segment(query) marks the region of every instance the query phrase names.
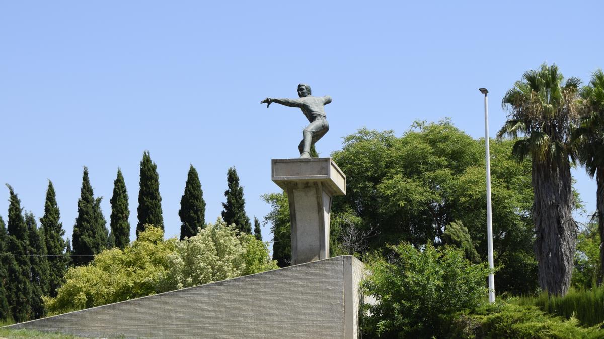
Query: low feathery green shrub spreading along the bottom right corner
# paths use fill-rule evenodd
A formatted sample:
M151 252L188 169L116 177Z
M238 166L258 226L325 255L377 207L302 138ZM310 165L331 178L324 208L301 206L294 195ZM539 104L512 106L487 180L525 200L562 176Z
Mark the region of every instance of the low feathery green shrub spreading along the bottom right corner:
M579 320L564 320L535 306L507 303L484 305L451 318L451 338L604 338L598 326L582 328Z

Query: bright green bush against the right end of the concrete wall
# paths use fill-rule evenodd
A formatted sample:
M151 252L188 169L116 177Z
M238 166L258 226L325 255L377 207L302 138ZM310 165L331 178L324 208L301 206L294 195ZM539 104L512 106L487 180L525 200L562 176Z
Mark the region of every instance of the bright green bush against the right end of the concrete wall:
M362 287L377 300L364 306L368 337L439 335L450 315L484 300L489 269L468 261L462 250L429 244L418 250L406 243L390 249L389 261L377 255L367 261L371 274Z

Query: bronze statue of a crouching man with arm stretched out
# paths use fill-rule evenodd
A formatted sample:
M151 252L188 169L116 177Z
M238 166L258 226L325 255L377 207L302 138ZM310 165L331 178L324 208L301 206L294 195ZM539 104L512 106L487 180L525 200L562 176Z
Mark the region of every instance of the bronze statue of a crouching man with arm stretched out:
M266 98L260 103L266 104L266 108L271 106L272 103L277 103L283 106L298 107L302 110L302 113L306 115L310 124L302 130L302 141L298 145L298 150L300 150L301 158L309 158L310 147L329 130L323 106L331 103L332 98L327 95L321 98L312 97L310 95L310 86L307 84L298 85L298 97L300 99Z

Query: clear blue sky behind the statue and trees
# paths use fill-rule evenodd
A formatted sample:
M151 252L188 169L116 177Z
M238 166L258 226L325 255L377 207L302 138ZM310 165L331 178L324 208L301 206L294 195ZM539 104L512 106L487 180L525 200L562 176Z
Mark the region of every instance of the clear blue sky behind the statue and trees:
M297 157L306 119L260 101L296 97L300 82L330 95L322 156L360 127L393 129L451 117L484 136L505 121L501 98L528 69L567 77L604 68L599 1L1 1L0 183L42 217L50 179L71 237L88 166L111 214L118 166L137 224L139 164L158 165L166 235L178 235L189 164L214 222L236 166L246 211L269 212L271 159ZM596 185L576 188L595 211ZM6 220L8 189L0 187ZM585 222L584 216L577 221ZM496 221L494 221L496 223ZM263 227L265 239L272 239Z

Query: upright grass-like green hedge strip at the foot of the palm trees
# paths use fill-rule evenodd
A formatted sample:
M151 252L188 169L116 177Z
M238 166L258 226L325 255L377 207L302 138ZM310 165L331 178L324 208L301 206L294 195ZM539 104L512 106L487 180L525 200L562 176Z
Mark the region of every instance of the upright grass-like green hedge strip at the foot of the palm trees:
M565 318L576 317L582 325L594 326L604 322L604 286L591 290L571 288L566 296L519 297L510 299L517 305L538 306L544 312Z

